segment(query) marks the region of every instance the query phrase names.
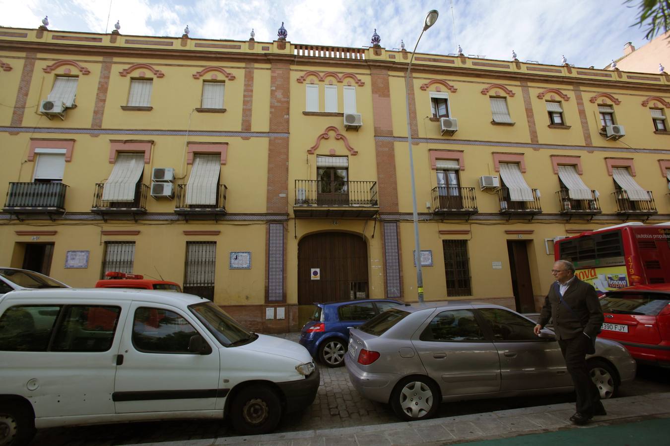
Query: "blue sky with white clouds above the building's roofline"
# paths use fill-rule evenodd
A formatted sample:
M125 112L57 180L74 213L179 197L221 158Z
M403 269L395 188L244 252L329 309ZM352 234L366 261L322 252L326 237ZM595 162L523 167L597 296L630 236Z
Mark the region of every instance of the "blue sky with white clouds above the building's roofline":
M291 43L367 47L375 29L381 45L411 51L431 9L440 13L417 52L604 68L630 41L647 43L633 25L638 1L624 0L0 0L0 26L123 35L257 41L277 39L284 22ZM633 26L631 26L633 25Z

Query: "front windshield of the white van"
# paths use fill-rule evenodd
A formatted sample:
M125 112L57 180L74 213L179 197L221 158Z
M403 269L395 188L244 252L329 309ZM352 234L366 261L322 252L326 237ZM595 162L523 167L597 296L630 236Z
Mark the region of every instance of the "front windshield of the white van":
M194 304L188 309L223 346L237 347L258 339L257 334L247 331L213 302Z

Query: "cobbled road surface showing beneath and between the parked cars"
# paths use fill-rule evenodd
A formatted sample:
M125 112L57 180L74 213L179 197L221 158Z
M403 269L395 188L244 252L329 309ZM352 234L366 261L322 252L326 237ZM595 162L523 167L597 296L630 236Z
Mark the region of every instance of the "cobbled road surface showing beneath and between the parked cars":
M314 403L301 414L285 417L277 432L331 429L397 423L388 405L363 399L352 388L344 367L320 366L322 382ZM639 366L636 379L620 388L620 397L670 392L667 369ZM574 401L574 395L515 397L444 403L440 417L468 415ZM155 421L84 427L58 427L38 431L32 445L106 446L160 441L184 441L236 435L221 421Z

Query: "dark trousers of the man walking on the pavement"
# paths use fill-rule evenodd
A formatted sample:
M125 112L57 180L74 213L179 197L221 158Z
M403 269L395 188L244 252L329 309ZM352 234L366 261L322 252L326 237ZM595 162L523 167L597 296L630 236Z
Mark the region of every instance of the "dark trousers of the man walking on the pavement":
M600 392L589 375L586 366L586 352L590 348L590 340L585 334L572 339L559 339L567 372L572 376L572 382L577 394L576 411L586 417L592 417L594 412L602 409Z

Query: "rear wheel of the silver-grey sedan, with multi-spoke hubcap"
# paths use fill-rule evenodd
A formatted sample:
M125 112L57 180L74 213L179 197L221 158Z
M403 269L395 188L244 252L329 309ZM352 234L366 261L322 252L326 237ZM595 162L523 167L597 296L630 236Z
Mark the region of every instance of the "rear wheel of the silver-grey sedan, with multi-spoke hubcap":
M440 391L431 381L422 377L401 380L391 396L395 414L405 421L431 418L440 407Z

